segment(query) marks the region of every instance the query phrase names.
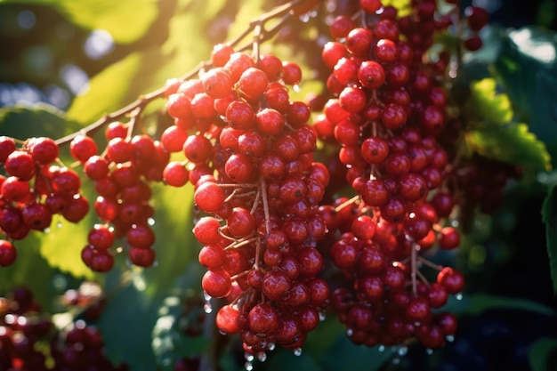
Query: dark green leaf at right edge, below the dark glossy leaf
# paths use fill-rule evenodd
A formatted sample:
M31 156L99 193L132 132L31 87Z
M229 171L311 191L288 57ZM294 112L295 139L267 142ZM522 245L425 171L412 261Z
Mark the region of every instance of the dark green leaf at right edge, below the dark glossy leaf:
M545 243L549 256L553 294L557 295L557 186L553 186L545 197L542 219L545 223Z

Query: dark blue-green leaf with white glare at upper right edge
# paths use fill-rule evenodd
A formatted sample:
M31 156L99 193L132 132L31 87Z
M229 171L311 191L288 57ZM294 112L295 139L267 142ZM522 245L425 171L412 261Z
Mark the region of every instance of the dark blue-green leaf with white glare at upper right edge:
M526 27L508 32L495 64L516 113L557 156L557 32Z

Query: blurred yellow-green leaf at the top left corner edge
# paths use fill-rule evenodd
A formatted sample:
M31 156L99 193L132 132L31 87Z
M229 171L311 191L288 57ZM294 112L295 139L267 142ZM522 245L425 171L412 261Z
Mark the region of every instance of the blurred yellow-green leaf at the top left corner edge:
M117 43L141 38L157 19L157 0L0 0L0 4L51 6L77 26L104 29Z

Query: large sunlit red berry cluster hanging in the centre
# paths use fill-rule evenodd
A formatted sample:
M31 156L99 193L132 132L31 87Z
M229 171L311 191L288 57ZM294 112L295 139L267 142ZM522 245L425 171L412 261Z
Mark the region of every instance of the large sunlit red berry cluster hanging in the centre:
M251 354L298 349L328 297L315 246L326 233L319 202L329 175L313 160L310 109L287 89L302 72L227 45L214 48L212 62L198 79L169 85L175 125L161 141L186 160L166 166L165 182L194 184L202 286L229 300L217 327L239 333Z

